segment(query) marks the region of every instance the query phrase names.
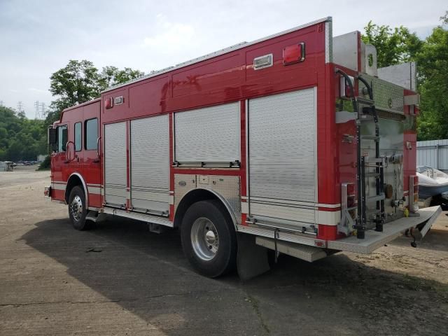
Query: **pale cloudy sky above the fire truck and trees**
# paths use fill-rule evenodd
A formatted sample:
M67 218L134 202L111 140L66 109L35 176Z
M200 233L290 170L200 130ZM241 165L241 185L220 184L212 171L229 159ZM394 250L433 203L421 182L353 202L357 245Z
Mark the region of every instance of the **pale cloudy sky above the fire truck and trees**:
M147 73L326 16L335 36L372 20L425 37L445 10L441 0L0 0L0 101L22 101L34 118L34 102L52 100L51 73L69 59Z

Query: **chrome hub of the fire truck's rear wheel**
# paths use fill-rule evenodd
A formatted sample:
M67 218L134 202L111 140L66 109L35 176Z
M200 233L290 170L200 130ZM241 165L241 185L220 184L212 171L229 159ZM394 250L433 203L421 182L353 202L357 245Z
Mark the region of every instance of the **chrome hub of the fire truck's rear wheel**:
M208 218L197 218L191 228L191 244L196 255L205 261L215 258L219 248L218 231Z

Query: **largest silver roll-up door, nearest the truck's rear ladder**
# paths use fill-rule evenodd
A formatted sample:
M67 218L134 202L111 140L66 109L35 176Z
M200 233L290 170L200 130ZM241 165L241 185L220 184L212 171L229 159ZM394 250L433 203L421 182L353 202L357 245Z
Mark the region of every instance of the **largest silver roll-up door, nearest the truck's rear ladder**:
M250 215L315 223L316 155L315 88L250 99Z

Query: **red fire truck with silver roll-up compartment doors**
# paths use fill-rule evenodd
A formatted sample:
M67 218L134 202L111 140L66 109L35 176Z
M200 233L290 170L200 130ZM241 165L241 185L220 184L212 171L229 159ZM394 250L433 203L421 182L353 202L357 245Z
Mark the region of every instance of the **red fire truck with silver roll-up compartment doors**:
M332 19L239 43L109 87L49 128L51 186L84 230L105 215L179 228L206 276L415 246L440 213L418 209L415 64L377 69Z

